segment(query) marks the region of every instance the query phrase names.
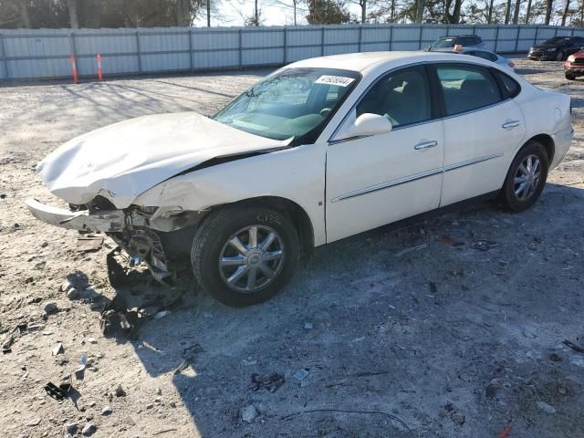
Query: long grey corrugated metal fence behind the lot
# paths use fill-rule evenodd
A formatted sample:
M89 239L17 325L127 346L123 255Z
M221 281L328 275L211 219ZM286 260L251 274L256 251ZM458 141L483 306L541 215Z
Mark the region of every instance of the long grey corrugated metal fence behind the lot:
M475 34L501 53L526 51L553 36L584 36L558 26L347 25L3 29L0 80L273 66L308 57L376 50L419 50L445 35Z

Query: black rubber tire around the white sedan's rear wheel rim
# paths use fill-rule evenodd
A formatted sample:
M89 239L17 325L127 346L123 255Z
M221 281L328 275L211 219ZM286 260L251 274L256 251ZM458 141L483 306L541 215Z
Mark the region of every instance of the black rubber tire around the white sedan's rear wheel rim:
M531 191L527 190L526 193L520 192L519 194L516 194L516 190L520 189L521 186L521 183L516 183L515 181L516 175L519 174L519 178L523 176L519 168L521 164L524 163L529 157L537 157L539 160L539 178L537 179L537 182L532 180L533 184L530 186ZM525 167L526 166L524 164L524 169ZM536 203L537 198L539 198L539 195L544 189L547 181L548 168L549 157L547 157L546 148L544 148L543 145L537 141L527 141L526 145L521 149L521 151L517 152L515 159L509 167L505 183L503 184L503 188L499 193L499 201L507 210L512 212L519 213L527 210L527 208ZM526 189L524 189L524 191L525 190ZM525 199L521 199L524 194L526 194L527 197Z

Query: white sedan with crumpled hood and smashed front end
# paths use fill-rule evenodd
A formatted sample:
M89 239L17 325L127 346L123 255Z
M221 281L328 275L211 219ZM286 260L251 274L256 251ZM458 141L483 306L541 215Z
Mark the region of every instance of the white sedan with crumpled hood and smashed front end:
M110 235L164 281L190 255L231 306L272 297L301 254L492 195L521 212L568 151L570 99L478 57L381 52L281 68L212 118L126 120L37 166L48 224Z

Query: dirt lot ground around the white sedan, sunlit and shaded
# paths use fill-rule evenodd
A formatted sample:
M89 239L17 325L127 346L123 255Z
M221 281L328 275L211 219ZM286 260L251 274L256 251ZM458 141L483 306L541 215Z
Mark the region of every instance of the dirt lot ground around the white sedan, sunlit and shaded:
M562 341L584 345L584 84L556 62L516 63L575 107L575 141L534 208L478 205L320 248L243 309L190 279L114 290L113 243L78 252L23 200L54 202L33 166L60 143L142 114L211 114L266 71L0 88L0 436L583 437L584 354ZM69 299L67 278L93 289ZM99 329L114 297L183 300L130 340ZM75 390L49 398L84 353Z

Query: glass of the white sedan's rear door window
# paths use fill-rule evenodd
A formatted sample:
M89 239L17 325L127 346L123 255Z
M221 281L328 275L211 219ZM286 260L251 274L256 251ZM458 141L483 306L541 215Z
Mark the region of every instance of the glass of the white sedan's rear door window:
M501 92L488 68L472 65L437 65L446 115L478 110L501 101Z

